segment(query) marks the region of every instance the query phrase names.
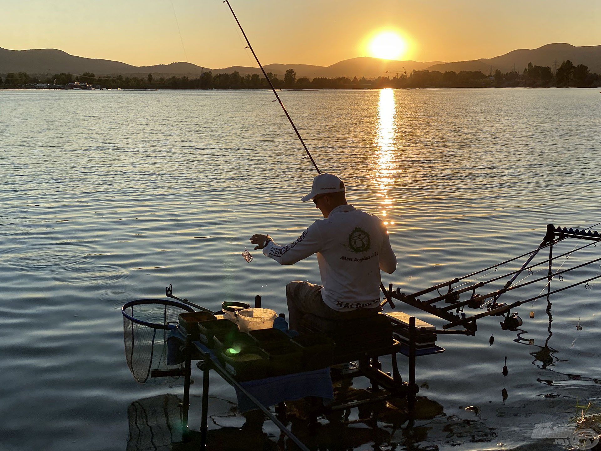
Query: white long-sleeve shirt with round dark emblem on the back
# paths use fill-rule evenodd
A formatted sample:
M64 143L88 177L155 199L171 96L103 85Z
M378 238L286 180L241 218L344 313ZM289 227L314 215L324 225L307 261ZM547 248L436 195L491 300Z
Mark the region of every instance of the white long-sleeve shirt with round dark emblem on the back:
M315 221L296 241L285 246L270 241L263 249L263 254L281 265L316 253L323 302L338 311L378 307L380 269L391 274L397 268L380 218L348 204Z

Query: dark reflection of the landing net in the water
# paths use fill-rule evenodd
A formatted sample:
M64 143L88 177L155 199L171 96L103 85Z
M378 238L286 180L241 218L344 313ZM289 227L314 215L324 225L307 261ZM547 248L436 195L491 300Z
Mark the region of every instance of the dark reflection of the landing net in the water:
M132 402L127 408L127 451L171 450L182 441L182 400L161 394Z

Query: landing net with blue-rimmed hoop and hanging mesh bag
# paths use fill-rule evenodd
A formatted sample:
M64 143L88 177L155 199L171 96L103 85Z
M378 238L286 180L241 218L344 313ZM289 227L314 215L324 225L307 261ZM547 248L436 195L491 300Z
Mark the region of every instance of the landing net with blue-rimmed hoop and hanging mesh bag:
M161 299L140 299L123 306L125 355L136 381L144 384L153 369L178 367L166 364L167 337L169 330L177 324L178 314L186 311L194 309Z

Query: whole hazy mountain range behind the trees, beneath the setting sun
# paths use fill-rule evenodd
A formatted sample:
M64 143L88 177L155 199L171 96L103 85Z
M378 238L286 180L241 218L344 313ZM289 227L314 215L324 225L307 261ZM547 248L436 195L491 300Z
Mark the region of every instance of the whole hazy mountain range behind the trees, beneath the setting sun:
M288 69L294 69L297 78L307 76L314 77L339 77L354 76L361 78L377 78L378 76L394 76L397 73L412 72L412 70L481 70L484 73L510 72L515 68L522 72L528 63L537 66L554 67L566 60L574 64L585 64L591 72L601 73L601 45L576 47L566 43L547 44L537 49L519 49L494 58L480 58L479 60L455 61L395 61L380 60L379 58L359 57L350 60L339 61L331 66L313 66L310 64L267 64L266 72L282 76ZM159 76L194 76L202 72L211 71L217 73L231 73L237 70L240 74L260 74L258 67L231 66L218 69L197 66L192 63L157 64L156 66L132 66L120 61L99 60L96 58L84 58L70 55L57 49L34 49L34 50L8 50L0 48L0 74L8 72L27 72L29 74L53 74L73 73L81 74L92 72L96 76L123 75L123 76L146 76L152 73Z

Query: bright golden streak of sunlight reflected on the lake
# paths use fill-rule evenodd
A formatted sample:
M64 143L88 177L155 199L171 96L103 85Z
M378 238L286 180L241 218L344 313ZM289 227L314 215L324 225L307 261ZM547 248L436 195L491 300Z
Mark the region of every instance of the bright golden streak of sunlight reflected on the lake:
M380 90L376 139L374 141L376 151L371 166L374 168L372 180L376 186L376 195L380 197L380 216L382 216L386 225L394 224L394 222L386 220L386 216L388 215L387 210L395 202L395 199L389 197L388 193L394 185L395 174L400 171L397 168L395 157L395 138L397 136L396 115L394 91L390 88Z

